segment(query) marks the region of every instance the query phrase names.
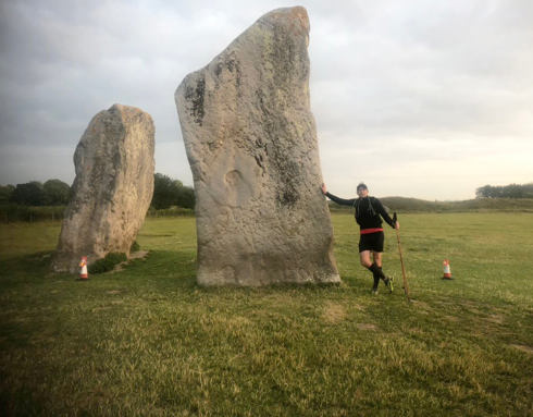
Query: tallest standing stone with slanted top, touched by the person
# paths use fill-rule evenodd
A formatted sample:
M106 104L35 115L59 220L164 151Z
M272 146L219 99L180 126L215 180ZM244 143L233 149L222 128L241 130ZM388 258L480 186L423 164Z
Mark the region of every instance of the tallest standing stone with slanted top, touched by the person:
M338 282L309 103L309 20L274 10L175 94L203 285Z

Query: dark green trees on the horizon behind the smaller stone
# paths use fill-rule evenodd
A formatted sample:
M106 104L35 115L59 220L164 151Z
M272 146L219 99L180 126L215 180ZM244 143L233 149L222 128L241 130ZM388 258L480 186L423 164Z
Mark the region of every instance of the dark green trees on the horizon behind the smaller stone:
M156 173L151 207L160 210L172 206L194 209L195 191L178 180ZM0 185L0 205L65 206L72 197L72 187L61 180L45 183L30 181L24 184Z

